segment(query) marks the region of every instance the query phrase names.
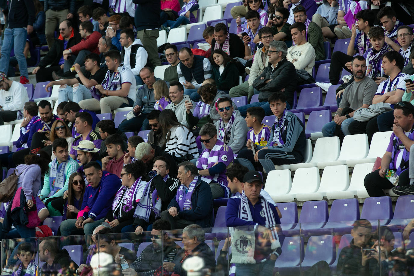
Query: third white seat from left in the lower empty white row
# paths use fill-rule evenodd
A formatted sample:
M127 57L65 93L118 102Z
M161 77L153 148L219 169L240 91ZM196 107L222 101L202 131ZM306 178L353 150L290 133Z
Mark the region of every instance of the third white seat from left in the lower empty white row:
M332 180L335 179L335 185ZM314 193L296 194L296 199L303 200L322 200L323 197L332 199L332 194L328 192L345 191L349 187L349 171L347 165L327 166L323 170L322 178L318 191Z

